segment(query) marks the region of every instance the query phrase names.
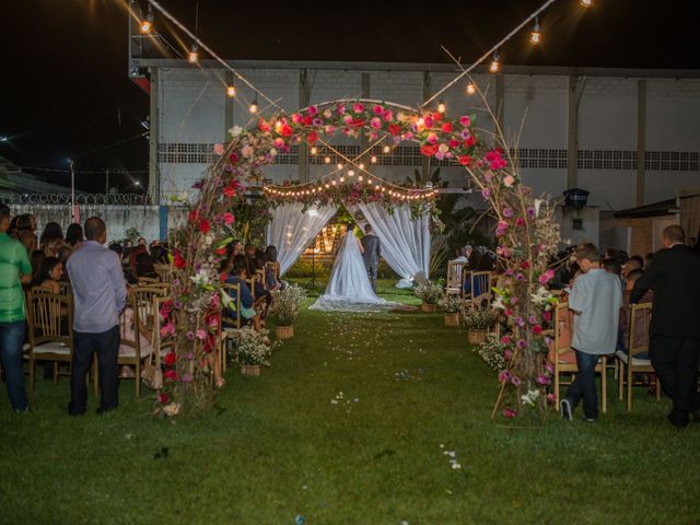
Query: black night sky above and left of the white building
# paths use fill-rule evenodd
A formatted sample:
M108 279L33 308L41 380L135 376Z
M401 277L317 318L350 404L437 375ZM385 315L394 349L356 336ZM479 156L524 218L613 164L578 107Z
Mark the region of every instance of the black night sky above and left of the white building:
M195 0L161 2L194 27ZM448 62L444 45L470 63L542 2L200 0L199 32L232 59ZM1 2L0 137L9 141L0 142L0 155L21 166L67 168L72 158L78 170L145 170L140 122L149 100L127 77L125 3ZM579 0L558 0L540 19L542 45L528 45L523 32L501 58L505 65L700 69L692 3L594 0L586 10ZM188 39L158 13L155 24L184 54ZM46 179L67 184L61 173ZM84 174L78 186L102 190L104 177Z

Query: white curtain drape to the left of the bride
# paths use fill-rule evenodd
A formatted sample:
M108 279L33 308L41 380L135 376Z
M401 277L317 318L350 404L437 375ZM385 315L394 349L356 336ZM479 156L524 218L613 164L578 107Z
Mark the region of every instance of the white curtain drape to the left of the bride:
M280 273L284 275L302 256L326 223L335 215L337 208L310 208L302 213L304 205L285 203L272 211L272 220L267 226L267 244L277 247Z

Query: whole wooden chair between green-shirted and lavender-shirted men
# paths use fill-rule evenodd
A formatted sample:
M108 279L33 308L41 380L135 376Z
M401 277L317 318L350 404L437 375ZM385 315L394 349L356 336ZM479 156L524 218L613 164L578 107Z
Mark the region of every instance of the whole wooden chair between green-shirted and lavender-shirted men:
M37 361L54 361L54 383L59 375L70 376L73 357L72 295L33 288L26 293L28 324L30 386L34 390ZM67 312L61 322L61 311ZM68 363L68 374L59 374L58 364Z

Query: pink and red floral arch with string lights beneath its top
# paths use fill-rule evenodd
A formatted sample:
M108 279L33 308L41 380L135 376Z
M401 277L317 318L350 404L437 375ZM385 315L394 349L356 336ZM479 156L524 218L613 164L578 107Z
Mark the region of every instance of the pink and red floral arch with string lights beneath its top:
M243 199L246 184L262 180L262 167L278 154L295 144L324 144L346 165L294 187L266 186L272 206L368 201L387 209L408 205L418 213L432 207L434 188L406 188L374 176L361 159L349 159L325 141L337 132L364 133L373 145L389 149L402 141L417 142L422 155L452 159L465 167L498 219L494 234L504 275L497 305L512 327L503 338L508 366L499 374L501 393L494 412L503 405L509 416L545 413L549 380L544 332L551 323L553 300L544 284L553 277L548 260L559 240L549 202L536 199L521 184L517 162L510 156L500 130L489 148L479 140L472 116L451 119L431 109L366 100L328 102L292 115L259 118L250 129L230 130L230 142L215 148L218 160L197 184L199 199L188 205L188 222L173 238L173 301L162 312L165 324L161 331L174 337L175 352L165 362L161 408L166 413L200 411L213 401L206 358L214 351L220 335L219 265L233 240L230 226L236 220L230 210Z

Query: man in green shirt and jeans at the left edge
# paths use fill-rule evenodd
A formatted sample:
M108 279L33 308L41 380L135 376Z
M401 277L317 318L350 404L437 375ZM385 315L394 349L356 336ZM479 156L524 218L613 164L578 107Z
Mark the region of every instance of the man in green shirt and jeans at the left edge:
M9 229L10 208L0 205L0 362L12 408L27 412L30 404L22 372L22 342L26 329L22 283L32 279L32 265L22 243L8 235Z

